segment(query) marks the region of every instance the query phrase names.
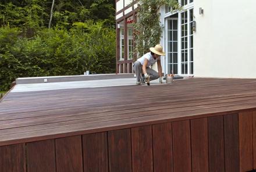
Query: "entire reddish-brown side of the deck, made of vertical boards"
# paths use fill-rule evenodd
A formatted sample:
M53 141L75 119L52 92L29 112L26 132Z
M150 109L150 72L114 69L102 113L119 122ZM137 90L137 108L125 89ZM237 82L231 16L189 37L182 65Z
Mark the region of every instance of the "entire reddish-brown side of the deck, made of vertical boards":
M250 171L255 113L1 146L0 171Z

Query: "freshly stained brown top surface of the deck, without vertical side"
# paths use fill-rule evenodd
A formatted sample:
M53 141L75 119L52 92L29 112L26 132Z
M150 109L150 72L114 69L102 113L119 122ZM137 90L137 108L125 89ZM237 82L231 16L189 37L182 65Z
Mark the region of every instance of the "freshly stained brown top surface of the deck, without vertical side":
M255 87L256 80L193 78L10 92L0 103L0 146L255 110Z

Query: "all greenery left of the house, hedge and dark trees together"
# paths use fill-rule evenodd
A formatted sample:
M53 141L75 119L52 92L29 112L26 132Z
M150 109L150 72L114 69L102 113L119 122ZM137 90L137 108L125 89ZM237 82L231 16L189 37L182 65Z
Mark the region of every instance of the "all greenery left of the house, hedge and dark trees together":
M115 72L115 1L1 0L0 89L17 77Z

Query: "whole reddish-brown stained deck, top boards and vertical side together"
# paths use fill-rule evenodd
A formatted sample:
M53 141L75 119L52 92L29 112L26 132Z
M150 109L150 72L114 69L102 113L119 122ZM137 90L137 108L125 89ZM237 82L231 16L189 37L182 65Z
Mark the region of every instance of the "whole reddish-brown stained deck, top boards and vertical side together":
M0 171L256 169L256 80L9 93Z

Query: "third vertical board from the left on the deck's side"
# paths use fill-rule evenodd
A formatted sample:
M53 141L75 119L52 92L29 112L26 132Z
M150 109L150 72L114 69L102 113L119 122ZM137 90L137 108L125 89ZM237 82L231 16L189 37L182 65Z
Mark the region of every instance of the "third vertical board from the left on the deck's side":
M55 139L56 171L83 171L81 135Z

